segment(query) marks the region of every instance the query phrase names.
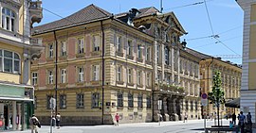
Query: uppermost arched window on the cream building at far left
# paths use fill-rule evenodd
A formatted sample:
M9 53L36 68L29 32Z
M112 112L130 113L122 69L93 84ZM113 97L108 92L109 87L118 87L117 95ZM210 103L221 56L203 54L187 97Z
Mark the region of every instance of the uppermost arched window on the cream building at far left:
M15 19L14 11L9 8L2 8L2 28L13 32Z

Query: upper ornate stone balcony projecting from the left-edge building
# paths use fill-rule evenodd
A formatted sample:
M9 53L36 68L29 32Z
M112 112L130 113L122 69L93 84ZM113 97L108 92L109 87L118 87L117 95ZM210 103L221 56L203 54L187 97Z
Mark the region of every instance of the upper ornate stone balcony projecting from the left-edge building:
M30 25L36 23L40 23L43 18L43 8L41 0L31 0L29 3L29 11L30 11Z

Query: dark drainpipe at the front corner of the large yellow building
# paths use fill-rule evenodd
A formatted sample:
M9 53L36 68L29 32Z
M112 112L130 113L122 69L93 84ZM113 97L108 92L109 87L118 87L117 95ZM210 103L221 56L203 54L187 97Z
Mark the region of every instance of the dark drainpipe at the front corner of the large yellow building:
M102 33L102 103L101 103L101 107L102 107L102 118L101 118L101 124L104 125L104 81L105 81L105 62L104 62L104 54L105 54L105 35L104 35L104 28L103 28L103 21L101 21L101 33Z

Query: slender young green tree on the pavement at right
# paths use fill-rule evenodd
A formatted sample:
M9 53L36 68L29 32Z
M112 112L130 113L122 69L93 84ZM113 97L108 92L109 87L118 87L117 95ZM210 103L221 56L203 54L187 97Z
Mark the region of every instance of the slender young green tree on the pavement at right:
M220 105L225 104L225 98L224 98L224 91L221 88L222 81L221 81L221 73L219 71L215 72L215 75L213 75L213 87L212 90L208 92L208 99L210 100L210 103L214 105L214 107L217 107L217 115L218 115L218 126L220 126L220 120L219 120L219 110Z

